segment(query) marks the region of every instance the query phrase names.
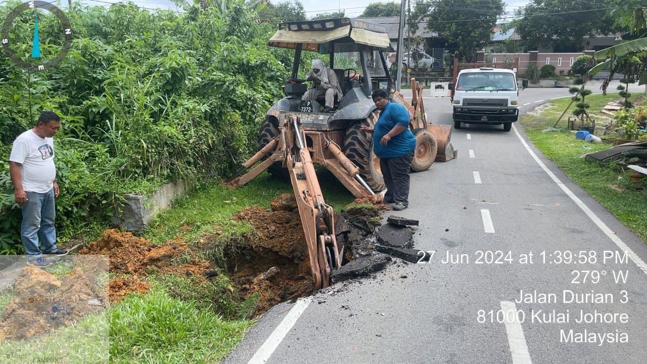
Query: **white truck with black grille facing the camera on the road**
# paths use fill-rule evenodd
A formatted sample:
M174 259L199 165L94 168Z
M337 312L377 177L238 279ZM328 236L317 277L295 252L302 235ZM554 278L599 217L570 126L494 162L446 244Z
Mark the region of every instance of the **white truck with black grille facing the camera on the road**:
M465 124L503 124L510 131L519 118L516 70L481 67L464 69L449 85L453 89L454 128Z

